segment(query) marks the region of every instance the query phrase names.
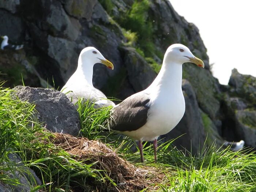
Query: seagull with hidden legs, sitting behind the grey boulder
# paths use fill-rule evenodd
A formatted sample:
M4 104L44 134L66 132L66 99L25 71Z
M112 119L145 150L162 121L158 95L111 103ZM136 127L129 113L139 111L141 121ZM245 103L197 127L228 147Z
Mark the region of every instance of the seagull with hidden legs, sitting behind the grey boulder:
M75 105L79 98L91 101L96 108L115 105L93 86L93 66L96 63L102 63L114 69L113 64L106 60L96 48L84 48L79 55L76 71L61 89L61 92L65 93Z

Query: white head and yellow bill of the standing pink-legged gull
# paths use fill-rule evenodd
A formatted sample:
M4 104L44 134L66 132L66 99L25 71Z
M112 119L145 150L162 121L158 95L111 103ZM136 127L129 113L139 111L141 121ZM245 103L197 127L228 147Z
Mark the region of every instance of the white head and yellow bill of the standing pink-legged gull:
M165 61L176 62L176 63L195 63L199 67L204 68L204 62L201 59L195 57L189 48L182 44L173 44L169 46L165 53Z

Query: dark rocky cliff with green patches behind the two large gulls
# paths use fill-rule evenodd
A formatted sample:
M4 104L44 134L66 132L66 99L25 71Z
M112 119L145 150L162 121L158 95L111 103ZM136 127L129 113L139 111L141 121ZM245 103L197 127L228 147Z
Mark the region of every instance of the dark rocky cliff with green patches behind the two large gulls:
M95 46L115 66L95 65L93 82L108 97L124 99L155 78L167 47L181 43L206 67L183 65L186 112L163 136L193 151L214 140L255 143L255 78L233 71L229 86L210 71L199 30L179 16L168 0L0 0L0 35L25 44L0 51L5 86L62 87L75 71L80 51ZM21 77L22 74L22 77ZM207 136L208 135L208 136Z

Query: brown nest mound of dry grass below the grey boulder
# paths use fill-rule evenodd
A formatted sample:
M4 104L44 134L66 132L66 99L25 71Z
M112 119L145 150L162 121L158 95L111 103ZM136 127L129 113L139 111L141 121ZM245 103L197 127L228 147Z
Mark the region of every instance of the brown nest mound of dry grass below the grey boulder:
M159 170L152 167L138 168L132 163L118 157L118 155L105 144L97 140L76 138L68 134L53 133L50 142L60 147L75 159L86 159L84 163L94 163L97 170L106 170L108 176L117 184L106 183L106 191L141 191L147 188L156 189L157 183L161 183L165 174L159 174ZM105 191L104 190L104 191Z

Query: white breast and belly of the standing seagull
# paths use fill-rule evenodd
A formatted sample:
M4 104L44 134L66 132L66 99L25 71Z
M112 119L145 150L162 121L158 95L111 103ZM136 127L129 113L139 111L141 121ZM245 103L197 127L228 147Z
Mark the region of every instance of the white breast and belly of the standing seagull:
M185 99L181 89L172 94L166 91L158 95L153 93L150 103L147 123L135 131L125 131L125 135L135 140L152 141L171 131L185 113Z

